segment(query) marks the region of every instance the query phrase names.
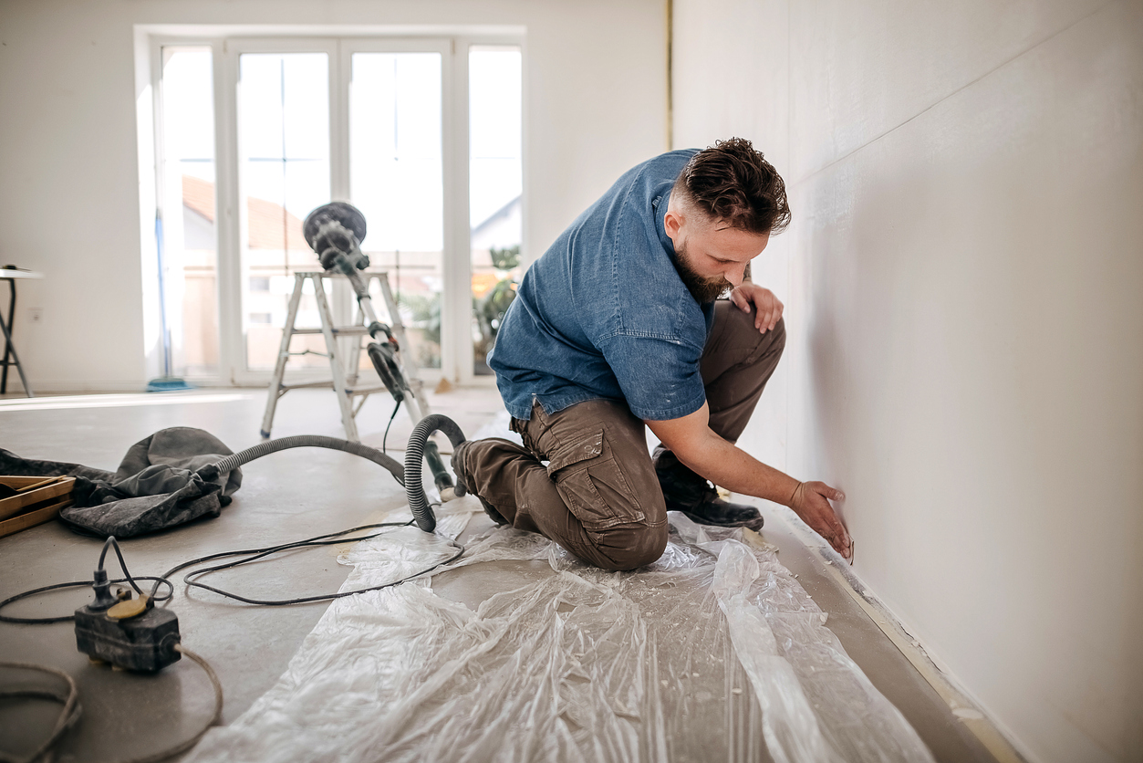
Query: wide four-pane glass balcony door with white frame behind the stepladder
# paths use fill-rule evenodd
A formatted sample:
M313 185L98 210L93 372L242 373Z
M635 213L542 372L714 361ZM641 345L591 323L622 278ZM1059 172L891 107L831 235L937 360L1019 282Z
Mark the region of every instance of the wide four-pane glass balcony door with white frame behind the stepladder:
M194 223L169 224L160 247L176 373L269 379L295 273L320 269L302 221L330 200L365 214L362 249L387 273L423 376L488 373L520 276L519 41L262 37L159 49L158 217ZM347 286L327 292L351 320ZM318 325L313 294L297 323ZM291 351L295 377L328 375L320 335L295 337Z

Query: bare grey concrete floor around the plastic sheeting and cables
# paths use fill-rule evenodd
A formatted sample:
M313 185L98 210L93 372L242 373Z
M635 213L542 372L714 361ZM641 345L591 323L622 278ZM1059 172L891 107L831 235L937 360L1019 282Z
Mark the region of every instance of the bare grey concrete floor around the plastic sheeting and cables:
M219 400L218 395L231 397ZM168 397L163 404L149 404L147 398L142 403L33 410L0 406L0 447L22 456L113 470L133 443L165 427L193 426L217 435L237 451L258 442L265 392L202 390ZM493 389L454 390L432 396L430 404L434 412L454 418L470 435L502 410ZM379 446L391 410L387 397L367 403L359 416L362 440ZM389 443L399 447L410 427L402 411ZM339 435L334 396L323 390L297 390L283 397L273 435L295 434ZM397 458L400 460L400 453ZM122 548L133 574L161 574L178 562L206 554L270 546L377 522L403 504L403 491L376 464L315 448L286 451L247 466L234 502L217 519L127 540ZM479 532L486 522L478 515L466 534ZM828 627L913 724L937 760L994 760L853 597L826 574L821 558L782 520L769 515L762 535L780 548L785 566L799 575L806 590L829 613ZM326 547L291 553L219 573L211 582L265 598L336 591L349 572L336 562L341 550ZM0 599L40 586L89 580L98 553L97 540L73 534L58 523L0 539ZM474 605L497 590L514 588L520 575L539 574L547 574L546 565L541 563L474 565L441 574L434 590ZM89 598L87 589L51 594L6 607L5 614L66 614ZM241 715L274 684L326 606L249 606L208 593L187 594L182 586L176 587L170 604L179 618L183 644L205 657L222 681L226 694L224 723ZM0 660L62 669L79 684L83 714L58 747L61 760L71 756L74 761L115 761L153 753L193 734L210 714L209 684L191 661L184 659L154 676L93 666L75 651L70 622L0 623ZM0 684L14 683L53 682L25 673L0 671ZM56 707L48 704L0 705L0 749L26 754L49 731L55 713Z

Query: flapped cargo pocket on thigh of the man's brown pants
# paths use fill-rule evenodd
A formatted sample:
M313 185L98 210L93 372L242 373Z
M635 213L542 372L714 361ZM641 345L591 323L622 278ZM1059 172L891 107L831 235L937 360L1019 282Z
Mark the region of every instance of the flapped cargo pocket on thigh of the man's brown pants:
M551 453L547 474L584 530L646 522L602 428L577 434Z

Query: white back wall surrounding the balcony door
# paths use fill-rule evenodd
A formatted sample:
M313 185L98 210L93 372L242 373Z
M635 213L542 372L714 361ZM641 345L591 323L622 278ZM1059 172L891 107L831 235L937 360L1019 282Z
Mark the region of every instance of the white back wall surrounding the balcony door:
M0 264L47 275L19 286L30 383L141 389L154 373L136 24L525 26L523 249L535 257L622 172L666 149L665 18L662 0L3 0Z

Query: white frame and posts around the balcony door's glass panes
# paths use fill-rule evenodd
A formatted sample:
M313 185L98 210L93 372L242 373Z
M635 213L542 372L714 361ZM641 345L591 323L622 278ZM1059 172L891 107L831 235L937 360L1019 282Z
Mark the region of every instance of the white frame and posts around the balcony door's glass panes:
M494 376L477 376L473 373L472 320L472 265L471 230L469 221L469 51L472 46L518 46L526 55L525 31L481 30L446 27L432 30L418 27L402 30L385 27L377 30L361 27L338 27L315 30L313 34L282 34L281 27L266 30L229 30L221 27L217 33L203 34L201 26L193 33L177 33L171 26L136 27L136 34L144 35L145 49L150 58L150 79L154 97L144 104L141 100L139 126L145 122L153 130L151 135L141 133L141 167L150 149L153 166L149 173L141 168L141 208L153 196L155 206L161 208L162 188L161 162L161 90L162 48L166 46L202 46L211 49L215 106L215 231L217 240L217 305L218 305L218 373L214 376L192 377L190 381L203 386L262 387L269 383L271 371L249 371L246 367L242 312L242 262L241 236L246 230L246 209L239 177L238 137L238 77L239 56L243 53L326 53L329 61L329 151L330 196L333 200L350 199L349 174L349 85L352 75L354 53L407 53L432 51L441 54L441 157L443 172L443 284L441 293L441 368L425 368L421 377L429 384L440 377L465 386L491 386ZM138 38L137 38L138 39ZM521 82L525 87L526 82ZM145 114L142 110L150 110ZM525 104L525 114L527 104ZM523 161L527 164L527 118L521 126L525 145ZM525 177L527 170L525 169ZM150 185L150 189L149 189ZM150 190L150 196L149 196ZM527 213L527 189L523 210ZM179 200L181 204L181 200ZM166 210L163 210L166 212ZM179 210L181 212L181 210ZM527 214L525 214L527 226ZM144 279L153 271L147 264L153 257L153 245L145 239L147 224L141 225L144 236ZM152 231L153 238L153 231ZM314 255L317 267L317 255ZM526 253L521 257L527 262ZM145 287L145 292L146 292ZM147 297L145 293L144 299ZM311 381L328 375L321 369L298 369L291 372L291 380Z

